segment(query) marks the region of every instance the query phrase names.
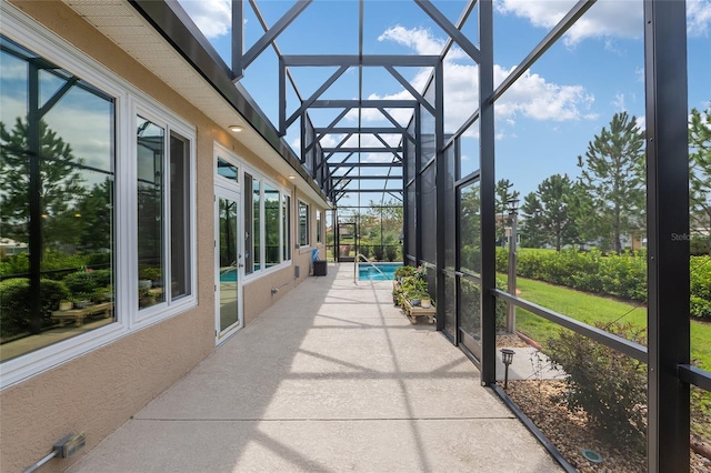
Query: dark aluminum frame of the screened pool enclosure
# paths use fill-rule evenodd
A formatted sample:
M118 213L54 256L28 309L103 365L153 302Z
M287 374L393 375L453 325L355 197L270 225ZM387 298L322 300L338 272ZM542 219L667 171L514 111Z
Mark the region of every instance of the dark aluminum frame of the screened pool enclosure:
M711 385L711 373L699 370L690 365L690 334L689 321L684 318L674 316L679 312L688 312L689 309L689 269L678 261L687 261L689 255L689 243L687 241L672 241L668 235L671 233L688 234L689 232L689 195L688 195L688 160L680 157L688 157L687 143L687 44L685 44L685 2L684 1L658 1L644 0L644 83L647 104L647 164L648 164L648 234L649 245L649 346L643 346L619 340L609 333L595 332L590 325L564 318L564 314L555 314L543 308L535 308L534 304L524 299L498 291L495 289L495 211L494 211L494 165L495 165L495 134L493 108L499 99L515 81L528 71L535 61L541 58L593 4L594 0L580 0L575 6L551 29L515 67L512 72L499 87L493 85L493 0L481 0L479 4L479 41L474 44L470 39L461 33L461 27L471 12L475 1L468 2L465 11L462 13L463 20L451 24L442 19L437 8L429 1L418 0L415 3L422 8L448 34L448 46L441 56L434 57L398 57L398 56L280 56L280 113L283 110L283 120L280 119L279 129L268 124L269 121L262 117L258 109L253 108L249 100L240 94L233 85L233 81L242 76L243 68L253 61L259 52L264 51L269 46L276 48L276 39L296 16L306 9L306 3L294 7L280 20L278 24L269 30L259 44L256 44L242 53L243 44L241 39L236 39L233 50L232 70L223 63L214 60L213 51L206 48L199 39L199 34L182 24L179 14L168 6L166 1L153 0L129 0L162 34L183 54L183 57L199 71L222 97L228 100L254 127L264 139L278 151L308 182L316 182L312 185L320 185L319 191L336 197L339 193L352 192L336 189L334 182L348 179L358 179L353 175L331 175L324 170L338 168L402 168L402 187L404 208L408 209L408 190L414 189L415 202L414 214L405 212L405 229L418 230L421 221L421 171L427 165L437 167L438 184L441 184L441 173L443 170L442 155L444 150L458 140L470 127L478 124L480 133L480 197L481 197L481 244L482 244L482 356L479 360L481 365L481 380L485 385L495 385L495 321L494 305L498 300L505 300L517 306L534 309L537 313L549 320L582 333L600 343L620 350L627 355L649 363L649 432L648 432L648 471L650 472L677 472L689 470L689 388L690 384L709 389ZM299 2L297 2L299 3ZM237 4L237 16L241 12L242 1L233 0ZM233 24L242 20L233 19ZM362 18L361 18L362 29ZM459 32L458 32L459 31ZM190 38L186 38L190 36ZM241 34L238 34L241 37ZM464 121L460 129L451 137L443 134L443 90L442 84L442 60L447 49L452 43L457 43L464 49L479 63L479 108ZM462 46L463 44L463 46ZM259 51L259 52L258 52ZM408 101L367 101L367 100L319 100L319 94L313 94L308 99L300 98L301 105L297 113L286 117L286 83L289 78L289 67L301 66L330 66L341 68L382 67L400 81L405 90L408 85L403 83L403 78L397 72L393 74L395 66L431 67L434 69L432 82L428 87L434 87L435 100L433 103L424 100L425 91L412 91L413 100ZM342 72L341 72L342 73ZM338 77L329 79L333 83ZM404 81L407 82L407 81ZM281 88L284 92L282 97ZM324 83L324 85L327 85ZM328 88L328 85L326 87ZM322 88L326 90L326 88ZM362 99L362 98L361 98ZM346 111L360 108L377 108L383 113L385 108L411 108L412 120L409 127L399 125L392 117L390 121L393 128L378 129L377 133L399 133L402 141L399 147L382 148L375 152L399 153L401 159L391 163L365 163L347 162L352 154L370 152L375 149L365 147L321 148L319 134L337 132L337 122L329 127L313 127L308 119L308 110L313 108L342 107ZM435 158L434 162L423 165L421 163L422 153L422 118L423 112L435 117ZM308 152L320 154L313 163L313 169L304 168L306 159L300 160L280 139L283 135L287 124L292 123L301 117L308 121L310 127L308 132L314 133L313 143L308 144ZM293 120L292 120L293 118ZM341 117L342 118L342 117ZM290 121L291 120L291 121ZM478 121L478 123L477 123ZM360 124L360 123L359 123ZM307 125L302 125L306 130ZM317 131L318 130L318 131ZM365 129L358 127L353 133L364 132ZM372 130L371 130L372 131ZM343 131L346 132L346 131ZM348 131L350 132L350 130ZM303 140L302 140L303 142ZM412 152L408 151L412 147ZM304 145L306 147L306 145ZM302 150L303 151L303 150ZM338 153L352 153L341 162L337 162ZM330 153L328 157L327 153ZM334 161L332 162L331 159ZM413 161L413 174L408 171L410 162ZM321 179L313 181L311 172L324 173ZM350 171L349 171L350 172ZM390 179L383 177L382 179ZM326 182L328 180L328 183ZM364 179L363 179L364 180ZM360 192L371 192L372 190L360 189ZM392 193L394 189L378 190ZM439 223L442 223L444 215L443 192L440 187L438 191L437 221L438 232L441 232ZM422 239L417 232L414 248L405 240L403 251L405 262L422 262ZM438 234L437 261L425 262L433 264L437 270L438 299L444 294L444 261L441 233ZM438 309L439 310L439 309ZM440 322L442 320L442 322ZM438 313L438 330L442 330L443 314ZM500 390L499 390L500 391Z

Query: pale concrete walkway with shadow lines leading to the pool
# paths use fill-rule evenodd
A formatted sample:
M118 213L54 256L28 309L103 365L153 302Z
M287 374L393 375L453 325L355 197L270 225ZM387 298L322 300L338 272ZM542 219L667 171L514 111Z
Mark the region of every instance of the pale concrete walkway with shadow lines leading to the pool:
M70 471L562 471L474 365L329 264Z

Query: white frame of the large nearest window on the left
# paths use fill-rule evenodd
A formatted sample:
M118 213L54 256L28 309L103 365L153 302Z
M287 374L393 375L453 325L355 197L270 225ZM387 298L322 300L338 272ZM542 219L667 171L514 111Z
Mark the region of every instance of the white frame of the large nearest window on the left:
M116 225L116 321L108 325L79 334L68 340L29 352L0 365L0 391L19 384L39 373L59 366L69 360L84 355L112 343L136 330L168 319L197 306L197 238L196 238L196 128L178 119L162 104L133 87L130 82L79 51L71 43L47 30L17 8L0 2L0 33L37 54L51 59L57 66L90 82L114 100L114 213L116 222L136 219L136 110L150 110L143 117L164 117L170 128L190 141L190 295L169 308L158 306L138 319L136 225ZM133 143L133 145L132 145ZM133 245L133 248L131 248Z

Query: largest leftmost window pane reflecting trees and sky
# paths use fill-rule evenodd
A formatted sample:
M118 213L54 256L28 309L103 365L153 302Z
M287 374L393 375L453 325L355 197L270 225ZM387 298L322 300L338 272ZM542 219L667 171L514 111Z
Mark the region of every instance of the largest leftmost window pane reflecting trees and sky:
M114 321L116 99L6 37L0 44L4 363ZM74 330L74 312L60 311L73 304L108 316L89 313Z

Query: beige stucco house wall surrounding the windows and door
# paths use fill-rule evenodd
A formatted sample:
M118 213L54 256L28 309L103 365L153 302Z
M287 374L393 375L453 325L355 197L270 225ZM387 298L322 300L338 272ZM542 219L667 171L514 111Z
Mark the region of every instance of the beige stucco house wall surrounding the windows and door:
M67 433L86 432L87 446L81 453L68 461L52 460L40 470L62 471L214 350L214 141L234 150L250 165L283 185L292 188L293 184L264 165L259 157L233 140L63 3L10 2L117 76L140 87L197 129L198 306L0 392L0 471L23 471L49 453L51 445ZM296 195L292 202L292 215L296 215ZM292 221L294 224L298 222L297 219ZM294 239L292 229L292 241ZM309 261L310 250L293 250L293 263L301 266L300 280L308 278ZM293 274L293 266L289 266L244 286L247 323L298 284ZM289 284L271 295L271 288L288 280L291 280Z

